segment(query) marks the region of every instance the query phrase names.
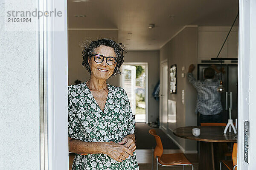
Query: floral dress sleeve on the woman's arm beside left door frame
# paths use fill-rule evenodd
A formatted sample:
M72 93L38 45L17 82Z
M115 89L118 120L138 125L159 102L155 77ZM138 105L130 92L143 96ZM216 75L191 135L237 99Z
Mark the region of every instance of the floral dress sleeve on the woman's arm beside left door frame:
M72 105L72 92L73 88L71 86L68 87L68 136L70 138L78 139L76 134L76 118L74 116L74 111L76 109Z

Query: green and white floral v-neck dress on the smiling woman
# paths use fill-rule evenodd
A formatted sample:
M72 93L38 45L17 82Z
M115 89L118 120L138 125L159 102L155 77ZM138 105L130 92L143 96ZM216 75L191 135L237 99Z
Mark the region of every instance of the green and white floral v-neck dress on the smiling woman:
M68 86L69 137L84 142L121 142L134 133L134 117L123 88L108 85L104 111L83 82ZM135 153L121 163L105 154L76 154L72 170L139 170Z

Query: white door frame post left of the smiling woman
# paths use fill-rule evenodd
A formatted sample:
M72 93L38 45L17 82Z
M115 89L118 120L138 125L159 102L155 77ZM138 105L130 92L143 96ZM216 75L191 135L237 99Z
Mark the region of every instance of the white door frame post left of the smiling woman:
M61 17L39 17L41 170L69 168L67 0L39 0L39 10L55 9Z

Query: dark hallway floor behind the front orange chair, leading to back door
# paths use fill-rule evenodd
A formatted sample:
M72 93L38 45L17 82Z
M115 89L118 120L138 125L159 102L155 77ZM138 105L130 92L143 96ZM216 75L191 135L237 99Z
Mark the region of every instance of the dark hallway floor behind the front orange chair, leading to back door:
M136 148L137 149L152 149L156 146L154 136L148 133L148 130L154 129L157 135L160 136L163 149L179 149L177 145L160 129L152 128L145 123L135 124L135 138L136 138Z

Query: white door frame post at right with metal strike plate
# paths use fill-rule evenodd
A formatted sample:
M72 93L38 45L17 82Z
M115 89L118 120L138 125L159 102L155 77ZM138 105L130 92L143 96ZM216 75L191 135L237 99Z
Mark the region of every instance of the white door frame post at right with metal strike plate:
M238 170L256 168L256 0L239 0ZM244 161L244 121L249 121L249 163Z

